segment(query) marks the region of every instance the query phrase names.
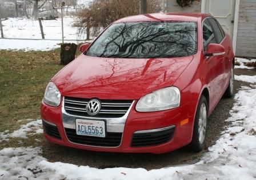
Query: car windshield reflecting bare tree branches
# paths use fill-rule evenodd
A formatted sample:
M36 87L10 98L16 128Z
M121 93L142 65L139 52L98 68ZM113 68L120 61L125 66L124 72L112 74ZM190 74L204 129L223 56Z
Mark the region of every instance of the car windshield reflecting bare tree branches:
M86 55L115 58L185 57L197 53L196 22L114 23Z

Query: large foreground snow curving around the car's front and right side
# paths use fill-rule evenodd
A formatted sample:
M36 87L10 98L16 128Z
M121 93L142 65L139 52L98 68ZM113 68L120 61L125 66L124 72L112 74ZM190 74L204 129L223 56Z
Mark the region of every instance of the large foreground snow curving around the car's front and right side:
M49 162L41 156L40 147L18 147L0 151L0 179L255 179L256 85L243 86L234 98L231 117L226 120L231 126L226 127L201 161L193 165L150 171L123 167L96 169Z

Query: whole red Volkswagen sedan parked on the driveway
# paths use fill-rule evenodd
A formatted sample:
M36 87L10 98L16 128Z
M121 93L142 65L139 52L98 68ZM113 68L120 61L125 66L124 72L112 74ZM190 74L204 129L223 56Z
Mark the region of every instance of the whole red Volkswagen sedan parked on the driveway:
M41 105L46 139L93 151L201 151L207 118L233 96L229 35L209 14L119 19L64 67Z

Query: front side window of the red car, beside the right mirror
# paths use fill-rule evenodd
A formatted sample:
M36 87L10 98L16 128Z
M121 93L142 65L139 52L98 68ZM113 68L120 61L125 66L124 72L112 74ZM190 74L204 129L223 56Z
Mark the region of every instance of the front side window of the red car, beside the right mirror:
M203 51L207 51L207 46L210 43L217 43L214 37L213 29L211 29L208 19L203 21Z

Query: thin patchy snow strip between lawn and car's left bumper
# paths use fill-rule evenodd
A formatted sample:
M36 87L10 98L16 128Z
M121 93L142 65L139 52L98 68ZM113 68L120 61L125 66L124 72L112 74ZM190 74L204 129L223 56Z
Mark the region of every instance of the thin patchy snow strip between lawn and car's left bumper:
M25 121L26 120L30 121L31 119L25 119ZM41 133L43 133L42 120L38 119L37 121L26 123L26 125L21 125L21 128L13 131L13 133L9 133L9 130L0 133L0 143L3 141L9 141L9 138L27 138L27 135Z

